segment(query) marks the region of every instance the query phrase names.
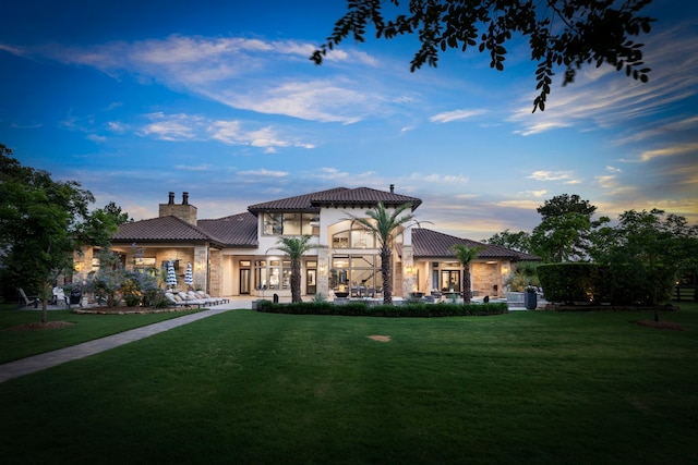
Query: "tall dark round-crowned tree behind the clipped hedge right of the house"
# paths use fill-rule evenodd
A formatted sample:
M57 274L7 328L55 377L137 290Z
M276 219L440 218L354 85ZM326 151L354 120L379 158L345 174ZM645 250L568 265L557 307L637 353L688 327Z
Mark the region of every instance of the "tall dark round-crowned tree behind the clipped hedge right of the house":
M545 262L587 260L592 231L609 222L593 220L597 207L578 195L558 195L540 206L541 223L531 233L531 249Z

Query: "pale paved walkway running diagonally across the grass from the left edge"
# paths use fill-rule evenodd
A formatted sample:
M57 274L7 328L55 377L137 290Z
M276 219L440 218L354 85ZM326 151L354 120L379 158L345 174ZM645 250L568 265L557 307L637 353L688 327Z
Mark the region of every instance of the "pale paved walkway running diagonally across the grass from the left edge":
M9 362L7 364L0 365L0 383L14 378L19 378L24 375L29 375L36 371L51 368L57 365L64 364L65 362L88 357L89 355L98 354L100 352L128 344L129 342L148 338L153 334L168 331L172 328L188 325L192 321L201 320L203 318L238 308L249 307L241 306L240 302L231 302L230 304L221 305L219 308L210 308L207 310L198 311L196 314L184 315L183 317L172 318L142 328L132 329L129 331L120 332L118 334L109 335L107 338L96 339L94 341L83 342L82 344L73 345L70 347L59 348L57 351L47 352L45 354L34 355L32 357Z

